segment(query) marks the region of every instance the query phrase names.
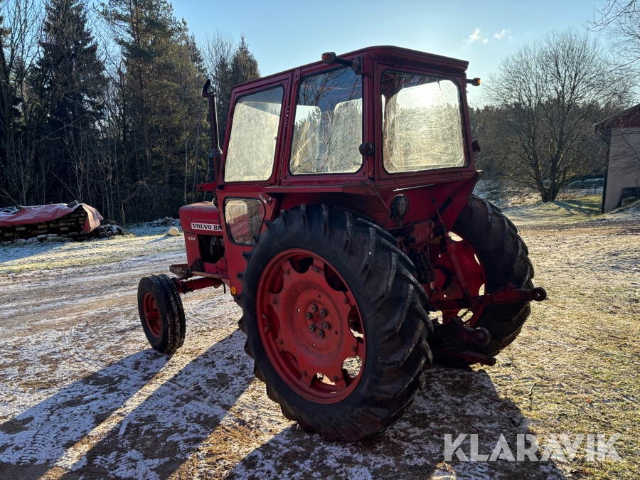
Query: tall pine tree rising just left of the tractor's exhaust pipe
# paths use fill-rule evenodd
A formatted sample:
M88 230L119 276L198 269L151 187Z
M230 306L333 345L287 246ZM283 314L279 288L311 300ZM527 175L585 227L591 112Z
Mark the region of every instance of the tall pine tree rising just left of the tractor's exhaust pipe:
M124 198L127 215L175 214L195 196L206 156L201 53L164 0L110 0L104 15L124 58L122 143L135 187Z

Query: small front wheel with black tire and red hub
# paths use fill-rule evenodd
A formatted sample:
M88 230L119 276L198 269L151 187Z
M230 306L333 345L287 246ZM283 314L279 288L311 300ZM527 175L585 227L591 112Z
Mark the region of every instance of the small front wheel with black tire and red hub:
M168 275L142 277L138 284L138 311L142 329L160 353L174 353L182 346L186 330L178 289Z

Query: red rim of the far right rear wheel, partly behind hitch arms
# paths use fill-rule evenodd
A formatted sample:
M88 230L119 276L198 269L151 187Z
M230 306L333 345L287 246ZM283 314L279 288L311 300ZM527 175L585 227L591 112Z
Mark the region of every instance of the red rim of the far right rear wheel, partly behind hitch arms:
M439 239L434 240L439 242ZM464 275L464 283L469 290L469 295L471 297L483 295L486 292L486 274L476 250L457 233L452 234L452 240L454 240L456 258ZM447 254L439 252L433 267L436 274L435 291L438 299L461 299L464 297ZM471 306L470 309L443 310L442 322L448 324L453 316L458 316L466 326L474 326L480 319L483 310L484 304Z

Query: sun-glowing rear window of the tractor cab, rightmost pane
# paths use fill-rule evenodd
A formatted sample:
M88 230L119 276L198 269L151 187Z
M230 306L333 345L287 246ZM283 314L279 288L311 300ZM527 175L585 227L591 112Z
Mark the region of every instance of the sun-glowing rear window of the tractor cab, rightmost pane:
M464 166L462 107L454 82L385 72L382 92L386 171Z

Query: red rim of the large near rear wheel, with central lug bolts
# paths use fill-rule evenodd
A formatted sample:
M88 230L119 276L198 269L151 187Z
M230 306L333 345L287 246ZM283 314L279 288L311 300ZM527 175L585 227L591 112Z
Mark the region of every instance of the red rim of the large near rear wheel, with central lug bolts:
M307 250L275 255L260 277L257 324L278 374L316 403L353 392L365 362L362 317L344 279Z

